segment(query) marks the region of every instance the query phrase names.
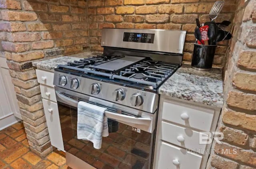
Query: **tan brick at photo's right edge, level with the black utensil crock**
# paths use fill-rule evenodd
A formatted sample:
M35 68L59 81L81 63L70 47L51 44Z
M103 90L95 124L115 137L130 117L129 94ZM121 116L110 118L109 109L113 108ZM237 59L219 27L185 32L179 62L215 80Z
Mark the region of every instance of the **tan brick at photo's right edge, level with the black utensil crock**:
M239 54L238 66L256 70L256 51L242 51Z

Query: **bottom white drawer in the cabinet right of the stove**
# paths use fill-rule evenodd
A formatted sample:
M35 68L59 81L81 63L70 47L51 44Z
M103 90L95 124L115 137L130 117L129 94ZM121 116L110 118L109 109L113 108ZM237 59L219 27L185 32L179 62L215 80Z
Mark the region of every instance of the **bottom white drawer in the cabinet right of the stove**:
M162 142L156 169L200 169L202 156Z

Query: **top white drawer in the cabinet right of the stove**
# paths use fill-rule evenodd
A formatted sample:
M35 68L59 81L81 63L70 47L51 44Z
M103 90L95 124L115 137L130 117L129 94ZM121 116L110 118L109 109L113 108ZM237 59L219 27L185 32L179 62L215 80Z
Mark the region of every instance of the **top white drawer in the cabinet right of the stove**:
M212 126L214 110L191 106L165 99L162 119L191 128L209 132Z

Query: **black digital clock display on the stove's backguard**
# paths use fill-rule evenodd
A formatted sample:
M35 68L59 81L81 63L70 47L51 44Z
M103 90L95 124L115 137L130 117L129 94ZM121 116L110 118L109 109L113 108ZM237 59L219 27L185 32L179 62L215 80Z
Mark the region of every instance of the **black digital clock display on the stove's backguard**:
M123 41L139 42L139 43L154 43L155 34L153 33L132 33L124 32Z

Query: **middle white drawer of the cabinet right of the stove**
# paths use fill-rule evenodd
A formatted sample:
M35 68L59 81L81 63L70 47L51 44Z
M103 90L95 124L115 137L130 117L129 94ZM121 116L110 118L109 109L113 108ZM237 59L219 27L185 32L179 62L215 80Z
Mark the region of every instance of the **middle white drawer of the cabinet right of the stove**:
M202 135L204 137L208 136L206 134ZM161 124L160 139L201 154L204 153L206 148L206 144L199 144L199 132L166 122Z

